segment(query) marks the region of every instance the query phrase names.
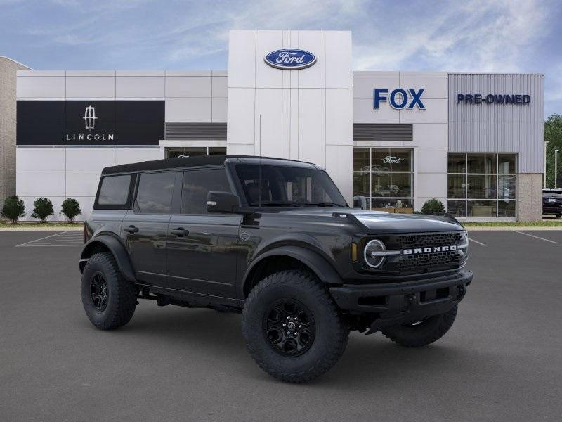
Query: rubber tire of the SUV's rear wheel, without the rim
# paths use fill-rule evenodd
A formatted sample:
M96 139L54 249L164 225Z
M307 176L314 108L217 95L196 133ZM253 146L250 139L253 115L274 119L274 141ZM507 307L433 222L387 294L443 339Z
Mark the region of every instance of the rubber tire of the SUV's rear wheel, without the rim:
M91 297L91 279L95 274L102 274L107 285L107 305L103 311L96 309ZM100 330L114 330L127 324L137 305L136 286L124 279L110 252L96 253L88 260L82 274L81 296L88 319Z

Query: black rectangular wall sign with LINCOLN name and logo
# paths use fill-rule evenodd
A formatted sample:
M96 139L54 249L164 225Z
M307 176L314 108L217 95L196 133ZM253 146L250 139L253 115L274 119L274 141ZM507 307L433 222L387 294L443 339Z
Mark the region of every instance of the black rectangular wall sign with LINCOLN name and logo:
M18 101L18 145L157 145L164 101Z

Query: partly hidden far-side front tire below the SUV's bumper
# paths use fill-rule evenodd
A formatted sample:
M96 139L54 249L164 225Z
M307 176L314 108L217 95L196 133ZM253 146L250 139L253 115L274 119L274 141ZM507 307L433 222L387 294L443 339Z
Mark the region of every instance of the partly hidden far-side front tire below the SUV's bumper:
M386 338L405 347L421 347L439 340L455 322L457 305L444 314L430 316L417 325L389 326L381 329Z

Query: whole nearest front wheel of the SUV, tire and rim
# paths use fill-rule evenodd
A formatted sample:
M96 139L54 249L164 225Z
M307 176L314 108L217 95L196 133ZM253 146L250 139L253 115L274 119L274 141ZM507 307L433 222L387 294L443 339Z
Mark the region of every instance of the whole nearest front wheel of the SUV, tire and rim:
M242 334L263 371L289 383L311 381L339 361L349 330L332 297L306 271L281 271L251 290Z

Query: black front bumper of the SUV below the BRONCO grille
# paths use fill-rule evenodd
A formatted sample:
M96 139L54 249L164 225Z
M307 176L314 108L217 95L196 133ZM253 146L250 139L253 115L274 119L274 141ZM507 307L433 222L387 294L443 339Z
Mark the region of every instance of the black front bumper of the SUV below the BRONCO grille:
M344 284L329 288L340 309L372 314L370 333L384 326L407 324L443 314L464 298L472 271L423 281L384 284Z

